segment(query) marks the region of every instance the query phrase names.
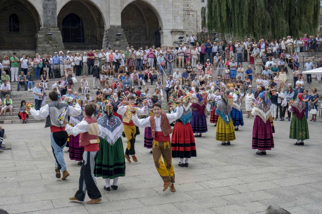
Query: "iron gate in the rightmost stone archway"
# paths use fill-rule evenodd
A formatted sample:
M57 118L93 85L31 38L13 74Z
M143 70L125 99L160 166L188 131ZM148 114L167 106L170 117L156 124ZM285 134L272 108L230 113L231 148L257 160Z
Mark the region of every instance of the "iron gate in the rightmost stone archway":
M141 25L136 27L122 27L130 46L135 49L139 47L161 47L161 28L145 28Z

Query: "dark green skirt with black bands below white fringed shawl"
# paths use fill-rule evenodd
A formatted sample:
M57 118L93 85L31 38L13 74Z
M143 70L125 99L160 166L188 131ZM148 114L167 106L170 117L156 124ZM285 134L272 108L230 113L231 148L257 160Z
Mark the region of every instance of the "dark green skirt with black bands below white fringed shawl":
M110 179L125 176L124 149L120 137L113 146L99 137L99 156L95 162L94 175Z

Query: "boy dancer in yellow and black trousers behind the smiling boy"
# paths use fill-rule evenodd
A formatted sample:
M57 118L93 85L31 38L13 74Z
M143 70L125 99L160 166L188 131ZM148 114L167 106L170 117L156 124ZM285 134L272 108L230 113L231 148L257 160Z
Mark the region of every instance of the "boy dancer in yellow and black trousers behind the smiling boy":
M133 95L128 96L128 104L122 102L121 105L118 107L117 113L119 115L124 115L123 117L123 126L124 126L124 133L127 140L127 146L125 150L125 158L128 162L131 162L130 155L133 158L134 162L137 162L137 157L135 156L134 150L134 143L135 143L135 136L136 136L136 127L131 120L131 108L135 110L137 115L147 115L149 108L147 106L147 101L143 100L142 108L134 107L135 106L135 97Z

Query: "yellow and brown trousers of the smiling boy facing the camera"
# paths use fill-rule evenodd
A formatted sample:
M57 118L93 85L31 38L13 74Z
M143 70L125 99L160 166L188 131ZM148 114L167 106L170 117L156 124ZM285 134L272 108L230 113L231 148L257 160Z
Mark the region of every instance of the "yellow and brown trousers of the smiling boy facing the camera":
M154 164L156 165L156 170L162 177L163 181L166 183L171 181L175 183L175 171L172 165L172 153L171 153L171 143L170 141L159 142L153 141L152 145L152 155ZM161 159L163 157L163 161Z

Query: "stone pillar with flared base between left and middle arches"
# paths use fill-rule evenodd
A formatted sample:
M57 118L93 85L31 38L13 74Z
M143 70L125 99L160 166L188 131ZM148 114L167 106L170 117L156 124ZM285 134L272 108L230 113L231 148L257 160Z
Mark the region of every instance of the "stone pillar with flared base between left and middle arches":
M62 34L57 28L56 0L43 0L43 26L38 31L37 53L52 55L55 51L64 51Z

